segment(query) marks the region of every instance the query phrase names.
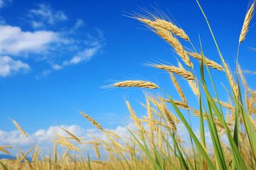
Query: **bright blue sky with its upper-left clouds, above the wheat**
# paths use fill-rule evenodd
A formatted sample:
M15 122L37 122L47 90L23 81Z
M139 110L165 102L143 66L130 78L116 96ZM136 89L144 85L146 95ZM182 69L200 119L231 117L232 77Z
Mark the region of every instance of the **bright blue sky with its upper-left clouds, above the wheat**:
M232 70L247 1L200 1ZM169 74L145 67L146 62L163 60L177 64L171 46L126 15L139 6L154 11L159 6L188 34L200 50L199 35L206 57L220 63L206 21L194 0L182 1L16 1L0 0L0 130L13 132L16 120L33 134L50 126L77 125L93 128L82 118L83 111L103 128L115 129L130 123L124 101L129 100L138 115L145 114L141 89L102 89L116 80L143 79L164 87L180 100ZM170 15L170 13L171 15ZM174 20L174 18L171 18ZM252 24L255 23L252 18ZM255 26L240 46L242 69L255 72ZM188 48L191 46L181 40ZM196 61L193 60L196 65ZM198 65L196 66L198 70ZM218 91L227 82L224 74L212 70ZM248 84L256 83L255 74L245 74ZM188 95L188 104L196 98L186 81L179 79ZM161 93L161 92L159 92ZM221 93L223 101L228 94ZM197 121L195 119L195 121Z

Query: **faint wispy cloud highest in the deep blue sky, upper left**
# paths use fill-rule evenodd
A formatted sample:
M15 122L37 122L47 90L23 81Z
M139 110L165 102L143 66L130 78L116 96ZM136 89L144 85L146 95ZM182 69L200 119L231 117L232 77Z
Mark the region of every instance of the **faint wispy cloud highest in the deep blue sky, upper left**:
M33 20L31 21L33 28L42 27L44 23L55 24L68 19L63 11L54 11L50 5L44 3L38 4L36 9L31 9L28 16Z

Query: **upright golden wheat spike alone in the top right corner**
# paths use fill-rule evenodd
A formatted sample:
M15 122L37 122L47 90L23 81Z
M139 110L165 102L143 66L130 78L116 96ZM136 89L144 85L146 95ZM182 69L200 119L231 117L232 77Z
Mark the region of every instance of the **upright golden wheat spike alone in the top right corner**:
M252 19L254 8L255 8L255 1L252 2L252 6L250 7L250 9L246 13L245 21L242 25L242 30L241 30L241 33L240 33L239 43L241 43L243 40L245 40L245 35L248 32L249 23Z

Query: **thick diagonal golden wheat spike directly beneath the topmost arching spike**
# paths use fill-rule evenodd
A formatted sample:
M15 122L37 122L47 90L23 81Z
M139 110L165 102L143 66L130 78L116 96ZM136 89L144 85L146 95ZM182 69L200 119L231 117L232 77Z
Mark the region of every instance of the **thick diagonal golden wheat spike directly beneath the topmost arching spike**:
M166 30L164 28L158 27L156 28L157 31L154 31L157 35L159 35L161 38L169 42L169 44L174 47L174 50L176 50L177 54L181 57L183 62L186 63L188 67L193 68L193 63L189 59L188 55L186 54L185 50L183 49L183 46L181 45L181 42L179 42L176 38L174 38L173 35L171 35L171 32L169 30Z

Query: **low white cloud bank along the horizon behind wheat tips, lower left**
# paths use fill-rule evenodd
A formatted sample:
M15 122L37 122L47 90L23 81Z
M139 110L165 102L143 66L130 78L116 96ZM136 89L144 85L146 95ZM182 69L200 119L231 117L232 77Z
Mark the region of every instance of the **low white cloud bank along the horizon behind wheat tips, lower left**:
M84 137L85 142L92 142L95 141L90 135L94 135L95 137L100 138L101 140L105 140L106 142L109 142L107 139L107 136L104 135L104 133L101 130L98 130L96 128L93 129L84 129L81 128L79 125L60 125L60 127L64 128L65 130L68 130L69 132L73 133L77 137ZM129 124L127 127L130 130L135 130L136 125L134 124ZM26 130L25 130L26 131ZM115 129L112 129L113 132L117 133L120 137L124 137L129 135L129 131L125 127L117 127ZM37 130L36 132L33 132L32 134L28 134L28 138L24 137L21 132L18 130L14 130L11 132L6 132L3 130L0 130L0 146L11 146L11 147L16 147L21 150L28 150L28 148L31 147L31 143L33 145L39 145L41 150L44 150L44 154L48 152L48 150L53 149L53 142L51 141L52 139L56 138L56 133L58 132L59 135L63 137L68 137L69 135L61 130L59 126L50 126L48 129L41 129ZM73 142L75 146L79 145L74 141L70 140L70 142ZM85 145L85 147L90 147L90 145ZM58 147L58 152L63 152L63 148L65 147ZM84 147L80 146L80 149L82 151L84 150ZM9 152L13 155L16 155L16 152L18 150L16 149L9 149ZM86 151L85 151L86 152ZM89 154L90 157L95 155L95 152L93 149L89 149Z

